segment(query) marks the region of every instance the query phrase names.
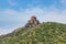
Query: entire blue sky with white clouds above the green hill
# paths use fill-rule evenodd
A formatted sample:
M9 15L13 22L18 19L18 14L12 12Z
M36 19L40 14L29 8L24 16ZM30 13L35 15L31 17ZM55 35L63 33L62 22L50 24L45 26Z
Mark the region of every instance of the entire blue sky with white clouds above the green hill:
M0 0L0 35L23 26L31 15L66 24L66 0Z

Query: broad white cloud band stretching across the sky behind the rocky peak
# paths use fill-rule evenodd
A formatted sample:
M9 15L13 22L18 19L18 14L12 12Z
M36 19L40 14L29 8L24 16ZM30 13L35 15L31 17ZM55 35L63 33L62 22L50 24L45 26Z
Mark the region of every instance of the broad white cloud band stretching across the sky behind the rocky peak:
M41 9L41 8L33 8L26 9L25 11L21 10L6 10L4 14L9 14L12 20L16 20L19 22L26 21L31 15L36 15L42 22L44 21L53 21L53 22L61 22L66 23L66 10L58 11L57 9ZM13 16L13 18L12 18ZM15 21L15 22L16 22Z

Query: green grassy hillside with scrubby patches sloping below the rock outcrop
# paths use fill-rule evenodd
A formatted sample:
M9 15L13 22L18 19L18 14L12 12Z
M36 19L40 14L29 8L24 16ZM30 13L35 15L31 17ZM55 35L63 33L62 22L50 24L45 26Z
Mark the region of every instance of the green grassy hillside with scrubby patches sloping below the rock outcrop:
M66 24L46 22L0 36L0 44L66 44Z

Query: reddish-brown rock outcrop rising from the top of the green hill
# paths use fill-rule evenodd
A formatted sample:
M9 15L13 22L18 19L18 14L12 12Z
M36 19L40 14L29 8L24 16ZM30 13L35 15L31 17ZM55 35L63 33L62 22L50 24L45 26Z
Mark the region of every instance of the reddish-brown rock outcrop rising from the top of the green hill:
M32 15L31 19L25 24L25 28L36 26L37 24L40 24L40 21L36 19L35 15Z

